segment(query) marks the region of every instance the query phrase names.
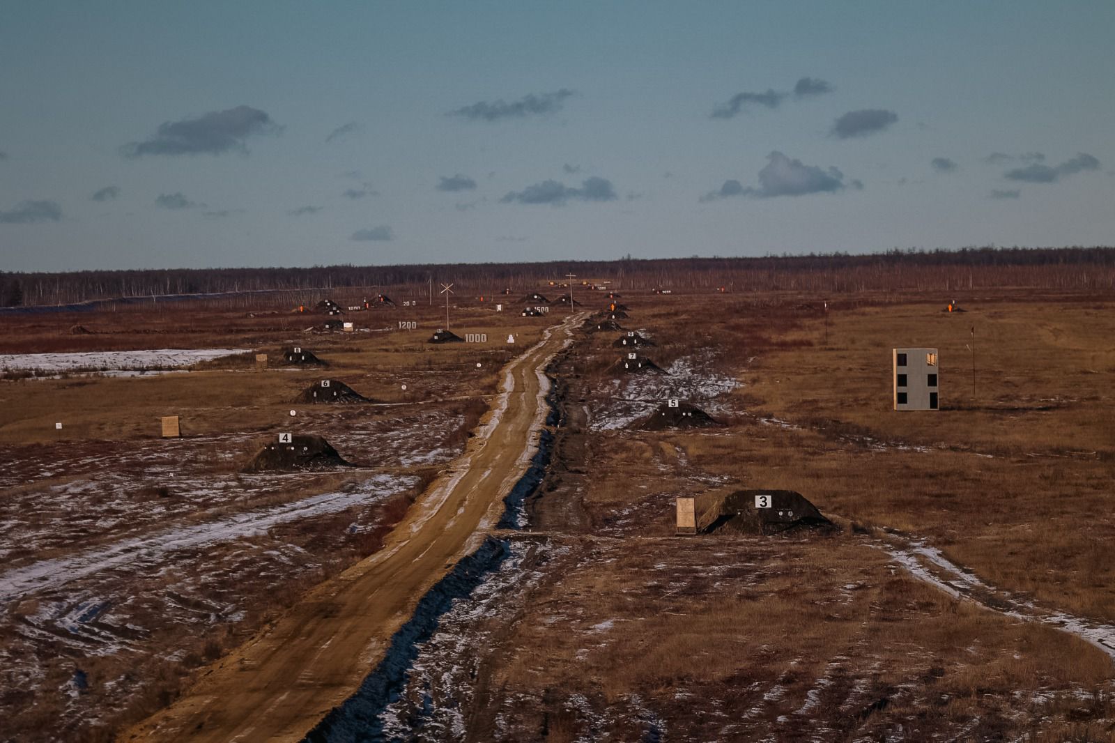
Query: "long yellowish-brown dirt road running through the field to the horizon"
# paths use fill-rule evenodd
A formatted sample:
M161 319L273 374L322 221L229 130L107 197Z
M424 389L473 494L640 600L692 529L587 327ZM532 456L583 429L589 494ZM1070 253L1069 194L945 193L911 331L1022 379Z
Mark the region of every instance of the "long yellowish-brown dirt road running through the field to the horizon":
M494 529L546 416L549 359L584 315L550 328L503 369L465 453L376 554L311 591L122 741L299 741L350 696L421 596Z

